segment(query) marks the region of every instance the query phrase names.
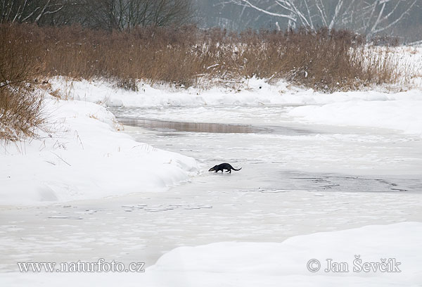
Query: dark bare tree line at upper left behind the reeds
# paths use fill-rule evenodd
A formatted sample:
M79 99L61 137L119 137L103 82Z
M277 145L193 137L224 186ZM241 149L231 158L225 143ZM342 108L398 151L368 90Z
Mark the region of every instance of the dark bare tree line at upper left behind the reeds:
M77 23L103 30L180 26L193 12L191 0L0 0L0 23Z

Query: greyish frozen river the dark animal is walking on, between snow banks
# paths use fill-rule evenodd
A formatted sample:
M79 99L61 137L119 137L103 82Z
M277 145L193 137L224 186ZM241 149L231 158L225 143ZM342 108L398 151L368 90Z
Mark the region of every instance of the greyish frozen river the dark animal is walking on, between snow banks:
M196 158L203 172L160 193L3 208L0 272L100 257L151 265L180 245L422 222L420 137L298 122L289 108L113 110L137 141ZM242 170L207 172L221 162Z

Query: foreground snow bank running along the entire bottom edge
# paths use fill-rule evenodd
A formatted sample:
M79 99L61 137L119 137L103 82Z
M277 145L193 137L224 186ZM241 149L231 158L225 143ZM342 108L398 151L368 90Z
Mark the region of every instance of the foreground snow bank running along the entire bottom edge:
M1 286L418 286L422 223L402 222L288 238L283 243L221 242L180 247L145 273L1 274ZM328 261L345 262L326 272ZM355 259L361 260L354 261ZM319 271L310 272L318 266ZM382 267L395 272L381 272ZM371 264L364 272L364 263ZM369 265L371 266L371 265ZM378 267L376 267L378 266ZM347 267L347 269L344 269ZM368 267L365 267L368 268ZM398 269L397 269L398 268ZM314 269L315 270L315 269Z

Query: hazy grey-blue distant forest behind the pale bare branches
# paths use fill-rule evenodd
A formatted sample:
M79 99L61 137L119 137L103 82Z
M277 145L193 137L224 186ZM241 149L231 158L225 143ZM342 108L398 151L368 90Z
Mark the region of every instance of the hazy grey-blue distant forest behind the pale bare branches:
M398 37L400 42L408 43L422 40L422 0L196 0L197 12L200 15L198 25L205 28L224 27L227 30L235 31L245 29L285 30L288 28L288 20L274 14L288 15L291 14L291 11L278 5L277 2L286 4L286 8L289 8L289 4L294 4L304 14L309 9L316 28L329 25L329 23L324 23L321 20L319 8L325 8L323 12L326 18L332 20L335 9L340 6L339 14L343 18L338 17L338 21L333 27L354 30L362 34L368 34L370 30L364 30L359 25L365 23L365 21L369 25L373 24L382 12L381 18L388 17L380 23L380 27L391 26L378 32L377 36ZM252 6L255 8L252 8ZM269 13L264 13L258 9ZM270 15L271 13L272 15ZM372 23L370 23L371 20ZM299 25L296 25L296 27L302 24L300 21L298 22Z

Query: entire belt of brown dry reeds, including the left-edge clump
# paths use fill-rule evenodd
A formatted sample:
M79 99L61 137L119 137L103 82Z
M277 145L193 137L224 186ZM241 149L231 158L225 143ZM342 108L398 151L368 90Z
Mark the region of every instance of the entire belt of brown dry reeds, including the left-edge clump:
M0 41L0 82L8 83L0 87L1 137L13 129L31 134L29 127L41 122L38 98L25 85L38 73L102 77L134 91L139 79L190 87L208 79L284 78L327 92L398 80L397 60L387 50L367 53L364 37L347 31L231 34L187 26L106 32L0 25Z

